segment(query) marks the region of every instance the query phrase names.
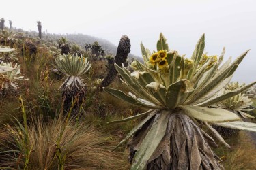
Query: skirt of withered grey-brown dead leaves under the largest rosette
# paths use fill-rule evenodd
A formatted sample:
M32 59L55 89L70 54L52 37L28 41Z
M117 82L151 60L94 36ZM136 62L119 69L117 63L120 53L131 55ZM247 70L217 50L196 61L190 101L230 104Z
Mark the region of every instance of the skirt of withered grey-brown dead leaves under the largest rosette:
M155 120L152 118L144 124L128 143L130 163ZM210 146L218 147L188 116L170 112L165 136L147 161L147 169L223 169Z

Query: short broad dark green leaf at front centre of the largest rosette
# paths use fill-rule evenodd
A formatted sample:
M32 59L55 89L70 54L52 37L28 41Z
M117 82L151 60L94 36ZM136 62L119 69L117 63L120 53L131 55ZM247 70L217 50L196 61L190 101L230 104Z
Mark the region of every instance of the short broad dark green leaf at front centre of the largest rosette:
M179 80L167 88L165 102L169 109L174 109L180 104L181 99L187 94L189 81L186 79Z

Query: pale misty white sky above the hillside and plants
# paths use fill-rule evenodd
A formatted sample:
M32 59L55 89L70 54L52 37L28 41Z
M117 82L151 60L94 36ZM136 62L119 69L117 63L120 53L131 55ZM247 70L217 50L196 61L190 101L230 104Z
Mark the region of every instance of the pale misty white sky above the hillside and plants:
M1 1L0 18L12 20L13 27L48 33L83 33L117 45L128 35L131 53L141 56L139 44L156 50L162 32L169 48L187 57L205 33L205 52L233 59L247 49L248 56L238 67L233 80L256 80L256 1L246 0L12 0Z

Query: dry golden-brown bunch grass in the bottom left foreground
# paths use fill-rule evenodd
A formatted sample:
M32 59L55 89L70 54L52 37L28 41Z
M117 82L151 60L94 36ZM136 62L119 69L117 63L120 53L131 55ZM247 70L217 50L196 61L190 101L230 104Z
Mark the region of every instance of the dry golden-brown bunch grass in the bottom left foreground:
M25 134L20 133L20 128L7 125L1 148L9 152L1 153L0 163L5 167L24 168L24 149L29 148L27 169L58 169L59 158L65 169L128 169L124 154L111 152L116 142L109 135L73 120L68 120L65 127L64 124L62 118L48 124L35 120L28 129L28 146L23 145ZM63 135L57 148L61 131ZM56 155L57 150L60 156Z

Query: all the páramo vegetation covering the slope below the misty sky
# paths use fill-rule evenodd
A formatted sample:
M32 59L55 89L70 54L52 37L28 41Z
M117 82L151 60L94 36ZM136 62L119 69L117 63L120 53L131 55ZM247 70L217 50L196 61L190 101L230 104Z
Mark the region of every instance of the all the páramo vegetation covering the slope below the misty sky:
M236 158L256 159L242 131L256 132L256 82L230 82L248 50L223 63L225 48L209 55L202 35L186 57L160 33L141 59L127 36L113 52L40 21L38 33L4 23L0 169L256 169Z

